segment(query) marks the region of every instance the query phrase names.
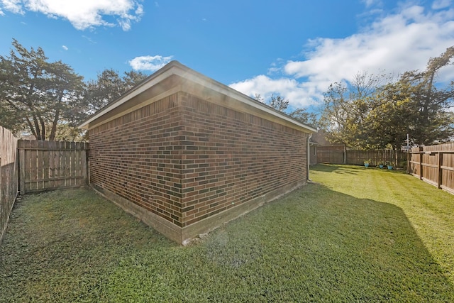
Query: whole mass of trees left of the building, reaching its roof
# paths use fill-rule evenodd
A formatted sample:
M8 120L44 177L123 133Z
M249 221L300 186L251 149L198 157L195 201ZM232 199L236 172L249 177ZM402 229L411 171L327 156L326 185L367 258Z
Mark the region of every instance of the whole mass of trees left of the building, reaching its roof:
M104 70L84 83L69 65L49 62L42 48L28 50L17 40L12 45L9 56L0 56L0 124L16 135L81 140L79 123L147 77Z

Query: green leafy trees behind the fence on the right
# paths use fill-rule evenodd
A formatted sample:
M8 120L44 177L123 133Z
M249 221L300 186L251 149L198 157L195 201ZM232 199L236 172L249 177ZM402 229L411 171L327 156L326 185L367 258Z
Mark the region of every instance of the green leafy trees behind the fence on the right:
M405 72L397 81L359 74L350 87L331 84L321 116L328 139L361 149L400 148L407 133L414 144L452 140L454 82L441 87L436 76L453 57L448 48L423 72Z

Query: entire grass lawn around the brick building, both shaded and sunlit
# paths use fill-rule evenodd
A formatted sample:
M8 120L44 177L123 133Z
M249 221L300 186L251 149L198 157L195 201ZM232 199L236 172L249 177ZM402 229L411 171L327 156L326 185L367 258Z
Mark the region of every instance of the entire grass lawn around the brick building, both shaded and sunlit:
M177 246L89 189L25 197L0 302L454 302L454 196L317 165L307 186Z

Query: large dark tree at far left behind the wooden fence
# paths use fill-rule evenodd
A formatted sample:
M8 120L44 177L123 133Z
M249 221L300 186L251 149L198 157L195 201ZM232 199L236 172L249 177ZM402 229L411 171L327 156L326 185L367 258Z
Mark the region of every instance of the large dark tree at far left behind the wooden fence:
M0 56L0 123L54 140L57 124L77 104L83 78L61 61L48 62L42 48L27 50L15 39L12 44L9 57Z

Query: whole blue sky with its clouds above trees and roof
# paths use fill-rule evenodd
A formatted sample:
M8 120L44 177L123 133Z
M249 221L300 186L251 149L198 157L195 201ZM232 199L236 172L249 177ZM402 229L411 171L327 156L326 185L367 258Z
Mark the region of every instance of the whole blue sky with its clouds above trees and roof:
M240 92L319 104L358 72L423 70L454 45L452 0L0 0L0 55L16 38L84 79L170 60ZM454 79L454 66L439 75Z

